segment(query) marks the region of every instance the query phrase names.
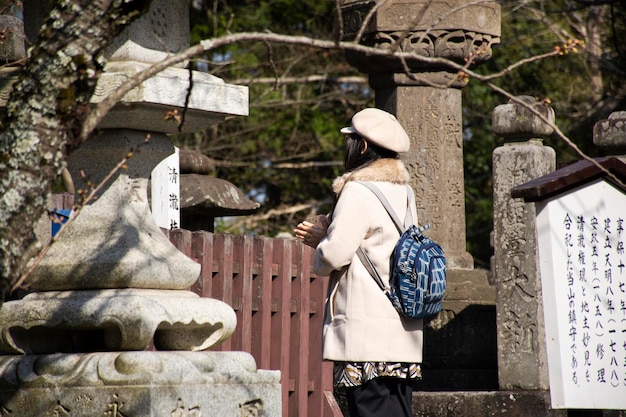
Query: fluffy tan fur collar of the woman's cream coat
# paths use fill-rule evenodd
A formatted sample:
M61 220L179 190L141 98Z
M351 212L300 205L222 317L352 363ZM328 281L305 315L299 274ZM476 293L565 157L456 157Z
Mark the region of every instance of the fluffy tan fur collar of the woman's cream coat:
M343 187L350 181L385 181L408 184L409 179L409 172L400 159L382 158L335 178L333 191L335 194L341 193Z

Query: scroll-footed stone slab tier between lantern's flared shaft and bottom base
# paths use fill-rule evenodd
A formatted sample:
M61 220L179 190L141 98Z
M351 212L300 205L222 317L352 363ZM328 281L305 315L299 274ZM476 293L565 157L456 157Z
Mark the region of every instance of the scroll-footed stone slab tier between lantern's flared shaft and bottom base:
M227 304L190 291L99 290L32 293L0 310L0 352L205 350L230 337Z

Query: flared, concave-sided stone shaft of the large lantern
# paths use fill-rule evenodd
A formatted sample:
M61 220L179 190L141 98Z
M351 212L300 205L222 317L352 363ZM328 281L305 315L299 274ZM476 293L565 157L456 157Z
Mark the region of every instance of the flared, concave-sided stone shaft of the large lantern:
M91 183L114 175L59 234L33 271L33 288L186 289L195 282L200 265L163 235L148 204L150 172L174 147L164 134L152 133L148 142L146 138L141 131L107 130L70 155L68 167L77 190L88 192ZM132 150L127 168L115 171Z

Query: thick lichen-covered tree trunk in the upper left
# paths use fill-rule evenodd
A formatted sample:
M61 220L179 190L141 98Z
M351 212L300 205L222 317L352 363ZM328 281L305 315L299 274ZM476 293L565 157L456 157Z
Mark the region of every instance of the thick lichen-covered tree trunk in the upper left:
M149 0L59 0L7 103L0 133L2 299L38 252L34 224L82 121L102 69L101 52Z

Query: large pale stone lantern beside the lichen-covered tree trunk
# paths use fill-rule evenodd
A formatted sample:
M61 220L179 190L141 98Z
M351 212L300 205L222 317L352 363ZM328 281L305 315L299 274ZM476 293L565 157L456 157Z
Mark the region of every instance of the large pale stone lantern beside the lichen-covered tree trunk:
M40 26L44 13L29 10L26 26ZM188 39L187 2L154 0L108 51L93 102ZM161 232L147 193L174 152L167 133L246 115L247 100L246 87L170 68L71 154L77 190L113 175L34 270L35 292L0 309L0 415L280 415L279 372L257 370L247 353L207 351L232 334L235 313L188 291L200 265ZM183 125L165 120L174 110L186 112Z

